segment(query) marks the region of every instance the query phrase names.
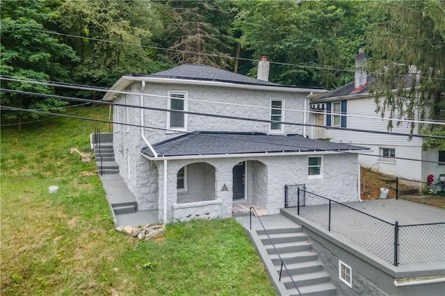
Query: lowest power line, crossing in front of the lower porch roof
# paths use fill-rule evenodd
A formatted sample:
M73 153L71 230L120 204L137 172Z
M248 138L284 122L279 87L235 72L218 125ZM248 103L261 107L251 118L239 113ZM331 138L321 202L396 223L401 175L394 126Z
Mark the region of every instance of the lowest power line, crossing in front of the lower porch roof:
M121 122L115 122L115 121L110 121L110 120L99 120L96 118L90 118L90 117L81 117L81 116L76 116L76 115L67 115L67 114L58 114L58 113L46 113L40 110L31 110L31 109L24 109L24 108L16 108L16 107L10 107L10 106L3 106L0 105L0 110L2 108L6 108L6 110L22 110L22 111L28 111L31 113L40 113L40 114L46 114L46 115L54 115L54 116L58 116L58 117L69 117L69 118L74 118L74 119L79 119L79 120L89 120L89 121L93 121L93 122L103 122L103 123L108 123L108 124L119 124L119 125L123 125L123 126L133 126L133 127L138 127L138 128L144 128L144 129L154 129L154 130L159 130L159 131L176 131L178 133L184 133L184 134L197 134L198 132L189 132L189 131L177 131L174 129L163 129L163 128L156 128L154 126L144 126L144 125L140 125L140 124L128 124L128 123L121 123ZM234 139L234 140L239 140L238 138L231 138L231 137L227 137L227 136L220 136L220 135L210 135L210 134L206 134L206 133L200 133L200 135L204 135L207 137L213 137L213 138L230 138L230 139ZM248 139L243 139L243 141L246 142L258 142L258 143L262 143L262 144L275 144L274 142L265 142L265 141L259 141L259 140L248 140ZM294 148L305 148L305 149L314 149L313 147L305 147L305 146L296 146L296 145L286 145L283 144L283 146L288 146L288 147L294 147ZM325 150L326 151L326 150ZM314 149L314 152L317 152ZM321 151L318 151L321 152ZM364 154L364 153L359 153L359 152L352 152L352 151L343 151L343 150L337 150L337 151L332 151L332 152L336 152L339 154L357 154L357 155L363 155L363 156L375 156L373 154ZM420 161L422 163L437 163L437 164L444 164L443 162L440 161L423 161L420 159L416 159L416 158L403 158L403 157L393 157L391 159L401 159L401 160L405 160L405 161Z

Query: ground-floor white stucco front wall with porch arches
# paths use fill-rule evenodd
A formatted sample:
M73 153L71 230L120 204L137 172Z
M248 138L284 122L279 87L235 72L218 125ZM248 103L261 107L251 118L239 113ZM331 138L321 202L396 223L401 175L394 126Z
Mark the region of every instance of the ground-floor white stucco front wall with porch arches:
M216 168L216 197L221 201L220 217L230 217L232 215L232 168L241 161L259 161L266 167L257 170L266 184L255 184L252 182L251 192L254 194L258 190L267 190L267 200L264 201L269 214L280 213L280 208L284 207L284 186L286 184L305 183L307 191L318 195L336 199L339 202L355 202L357 196L357 155L355 154L329 154L323 156L323 176L318 179L309 179L307 175L308 156L268 156L257 158L208 158L205 161ZM167 219L172 221L173 207L177 204L176 173L184 165L200 162L197 160L168 161L168 182L167 182ZM163 220L163 161L157 161L159 170L159 219ZM265 176L267 172L267 176ZM226 186L228 191L223 191ZM249 186L249 185L248 185ZM255 188L257 186L257 188ZM252 201L263 202L252 195ZM249 198L248 197L248 198Z

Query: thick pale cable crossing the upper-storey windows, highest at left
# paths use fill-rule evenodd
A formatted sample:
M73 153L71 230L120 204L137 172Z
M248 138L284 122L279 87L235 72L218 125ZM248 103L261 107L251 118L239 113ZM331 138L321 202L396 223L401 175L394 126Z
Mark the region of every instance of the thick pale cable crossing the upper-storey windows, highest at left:
M23 83L35 83L35 84L41 84L41 85L47 85L47 86L54 86L54 87L62 87L62 88L72 88L76 90L91 90L91 91L99 91L99 92L113 92L117 94L136 94L136 95L143 95L146 97L159 97L162 99L169 99L168 96L163 96L159 94L147 94L144 92L133 92L128 90L111 90L107 88L97 88L95 86L90 85L70 85L70 83L58 83L57 81L34 81L34 80L25 80L25 79L17 79L13 76L0 76L0 79L6 80L6 81L15 81L15 82L23 82ZM228 106L241 106L241 107L249 107L249 108L263 108L272 110L271 107L266 106L253 106L253 105L245 105L245 104L234 104L234 103L227 103L223 101L207 101L202 99L190 99L190 98L184 98L185 101L199 101L201 103L209 103L209 104L224 104ZM289 109L289 108L282 108L281 110L284 111L292 111L292 112L300 112L300 113L309 113L309 114L321 114L321 115L339 115L342 117L357 117L357 118L366 118L371 120L385 120L385 121L392 121L392 122L407 122L409 124L416 123L416 124L439 124L439 125L445 125L445 121L433 121L433 120L412 120L412 119L398 119L398 118L385 118L380 116L369 116L369 115L357 115L357 114L341 114L341 113L327 113L322 111L310 111L310 110L298 110L298 109Z

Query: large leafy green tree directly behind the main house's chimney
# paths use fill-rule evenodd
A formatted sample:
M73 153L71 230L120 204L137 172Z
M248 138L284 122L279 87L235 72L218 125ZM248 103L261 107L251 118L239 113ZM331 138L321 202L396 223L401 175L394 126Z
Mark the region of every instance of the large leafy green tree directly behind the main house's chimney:
M363 42L366 6L359 1L235 2L234 28L244 49L258 58L266 54L273 65L270 80L291 85L336 88L352 79ZM332 68L327 70L326 68ZM253 74L253 73L252 73Z

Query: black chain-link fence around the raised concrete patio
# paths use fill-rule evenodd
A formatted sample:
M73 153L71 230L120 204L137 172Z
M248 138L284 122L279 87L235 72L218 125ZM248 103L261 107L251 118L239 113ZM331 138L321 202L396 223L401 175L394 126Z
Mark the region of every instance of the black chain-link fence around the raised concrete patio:
M293 193L297 188L297 194ZM379 258L399 264L445 261L445 223L399 225L381 220L341 202L286 186L286 207L332 233L348 238ZM295 200L291 200L294 199ZM300 202L304 199L304 203Z

